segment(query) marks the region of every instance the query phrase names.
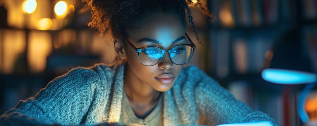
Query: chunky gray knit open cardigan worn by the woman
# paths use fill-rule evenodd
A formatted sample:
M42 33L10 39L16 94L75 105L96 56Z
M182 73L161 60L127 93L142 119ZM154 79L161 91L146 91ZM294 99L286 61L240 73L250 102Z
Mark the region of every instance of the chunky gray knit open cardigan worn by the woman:
M56 77L36 96L21 100L0 117L0 125L95 125L119 122L125 65L98 63ZM270 121L236 100L196 66L184 67L163 93L164 125Z

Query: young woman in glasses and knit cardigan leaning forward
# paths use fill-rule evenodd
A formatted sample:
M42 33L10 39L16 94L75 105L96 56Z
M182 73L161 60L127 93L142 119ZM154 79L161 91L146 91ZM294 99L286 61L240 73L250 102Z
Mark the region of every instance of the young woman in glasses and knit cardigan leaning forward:
M83 0L88 26L114 38L111 66L78 67L4 113L2 125L217 125L270 121L195 66L191 0ZM210 16L208 10L197 6ZM199 43L201 43L197 37Z

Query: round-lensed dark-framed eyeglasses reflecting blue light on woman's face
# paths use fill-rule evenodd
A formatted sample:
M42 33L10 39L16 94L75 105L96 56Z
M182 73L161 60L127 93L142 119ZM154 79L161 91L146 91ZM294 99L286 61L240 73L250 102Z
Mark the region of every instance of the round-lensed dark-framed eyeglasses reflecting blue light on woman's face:
M191 44L178 44L175 45L170 50L163 50L156 46L146 46L141 48L136 48L128 39L127 43L139 54L139 61L145 66L153 66L159 63L165 54L169 53L171 61L176 65L183 65L188 63L193 56L196 45L191 41L187 33L185 33Z

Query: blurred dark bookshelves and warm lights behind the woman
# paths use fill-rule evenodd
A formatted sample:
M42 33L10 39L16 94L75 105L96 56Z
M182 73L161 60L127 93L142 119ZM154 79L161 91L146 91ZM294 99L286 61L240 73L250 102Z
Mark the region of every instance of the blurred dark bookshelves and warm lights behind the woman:
M261 73L266 68L316 73L317 1L202 3L214 14L213 22L191 9L205 45L186 65L198 66L281 126L316 124L316 87L306 99L309 121L303 123L297 102L305 85L270 83ZM81 12L83 6L81 0L0 0L0 114L74 67L112 61L111 39L86 26L90 14ZM187 33L195 38L192 29Z

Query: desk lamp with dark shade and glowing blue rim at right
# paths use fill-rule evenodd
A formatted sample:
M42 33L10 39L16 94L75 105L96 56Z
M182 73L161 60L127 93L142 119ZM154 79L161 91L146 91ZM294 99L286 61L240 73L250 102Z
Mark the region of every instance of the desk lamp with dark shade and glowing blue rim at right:
M262 71L262 78L277 84L307 84L298 101L300 119L307 123L309 117L304 110L306 97L317 82L317 75L309 58L308 48L302 43L301 29L293 28L276 40L272 49L274 55L268 69Z

